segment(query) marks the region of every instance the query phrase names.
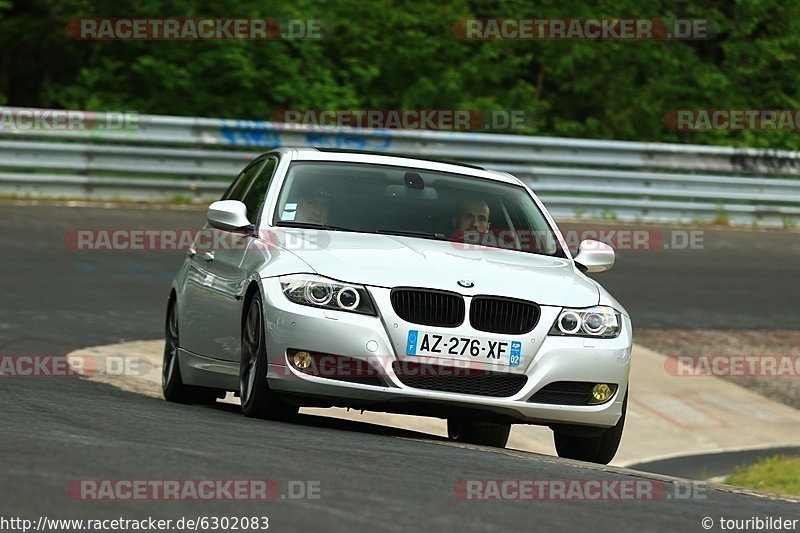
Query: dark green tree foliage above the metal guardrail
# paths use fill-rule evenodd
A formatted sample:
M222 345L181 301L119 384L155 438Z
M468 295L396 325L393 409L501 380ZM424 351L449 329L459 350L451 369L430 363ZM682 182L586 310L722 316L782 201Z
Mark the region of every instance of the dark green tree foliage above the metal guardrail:
M321 19L322 40L78 41L81 17ZM471 17L708 18L700 41L478 41ZM537 135L800 148L673 132L670 109L800 108L800 4L778 0L0 0L0 103L269 120L282 109L523 109Z

